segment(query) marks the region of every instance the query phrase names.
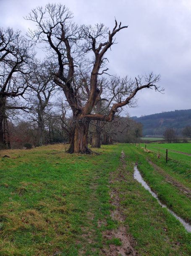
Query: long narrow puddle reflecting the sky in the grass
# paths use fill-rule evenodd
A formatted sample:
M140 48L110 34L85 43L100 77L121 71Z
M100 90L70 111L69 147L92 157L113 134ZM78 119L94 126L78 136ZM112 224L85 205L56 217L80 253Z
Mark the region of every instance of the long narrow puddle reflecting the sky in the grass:
M154 198L157 199L158 203L159 203L162 207L167 208L167 210L168 210L171 214L173 214L173 216L175 216L175 218L176 218L177 220L179 220L179 221L183 224L184 228L185 228L188 232L191 232L191 225L190 225L190 224L186 223L182 218L180 218L179 216L177 216L172 210L168 209L168 207L167 207L166 205L164 205L164 204L162 204L162 202L160 202L160 200L159 200L158 197L157 197L157 194L155 194L155 193L150 189L150 187L148 186L148 184L147 184L147 183L144 181L144 179L142 178L141 173L140 173L139 170L137 169L137 166L136 166L136 165L135 165L135 167L134 167L134 175L133 175L133 177L134 177L134 179L135 179L136 181L138 181L139 183L141 183L141 185L142 185L145 189L147 189L147 190L152 194L152 196L153 196Z

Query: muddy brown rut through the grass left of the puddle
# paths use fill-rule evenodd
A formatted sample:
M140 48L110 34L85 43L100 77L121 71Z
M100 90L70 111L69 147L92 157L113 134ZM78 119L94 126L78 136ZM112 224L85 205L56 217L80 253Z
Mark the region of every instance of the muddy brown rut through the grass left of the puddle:
M115 177L115 181L124 181L124 169L126 168L125 155L123 151L121 152L121 166L118 168L118 176ZM110 183L113 183L113 178L111 177ZM131 234L128 234L128 227L124 225L125 216L123 215L120 206L120 192L118 190L112 190L110 193L111 204L115 206L115 210L111 211L111 217L114 221L118 221L119 225L117 229L107 230L102 233L103 237L107 240L113 239L113 237L118 238L121 245L106 245L102 248L102 254L105 256L138 256L135 250L136 240Z

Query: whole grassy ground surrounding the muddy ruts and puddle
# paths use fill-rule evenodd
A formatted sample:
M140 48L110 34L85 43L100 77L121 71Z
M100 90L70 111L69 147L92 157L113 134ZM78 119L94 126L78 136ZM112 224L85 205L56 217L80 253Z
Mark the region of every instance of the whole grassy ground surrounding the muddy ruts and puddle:
M191 233L133 179L133 167L138 162L160 199L190 222L188 195L167 178L189 189L191 163L178 156L191 157L172 152L165 164L152 147L102 146L93 155L66 154L63 145L0 151L0 256L109 255L123 244L120 229L142 256L190 255ZM113 218L116 209L123 218Z

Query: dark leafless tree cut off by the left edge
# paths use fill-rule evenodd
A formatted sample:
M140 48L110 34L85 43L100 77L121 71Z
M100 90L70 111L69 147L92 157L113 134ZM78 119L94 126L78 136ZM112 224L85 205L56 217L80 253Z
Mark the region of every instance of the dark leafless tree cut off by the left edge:
M26 91L26 74L30 72L29 60L34 57L32 44L20 31L0 28L0 143L5 143L3 119L8 109L26 109L22 102L14 106L9 99L22 97Z

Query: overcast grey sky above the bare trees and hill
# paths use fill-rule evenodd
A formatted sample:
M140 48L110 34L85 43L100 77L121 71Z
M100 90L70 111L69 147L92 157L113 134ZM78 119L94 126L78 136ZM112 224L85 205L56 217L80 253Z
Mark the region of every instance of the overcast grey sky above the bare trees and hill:
M191 0L0 0L0 27L26 32L32 8L62 3L78 24L104 23L113 28L115 17L128 29L116 36L107 54L110 74L161 74L165 94L151 89L138 94L131 116L191 108Z

